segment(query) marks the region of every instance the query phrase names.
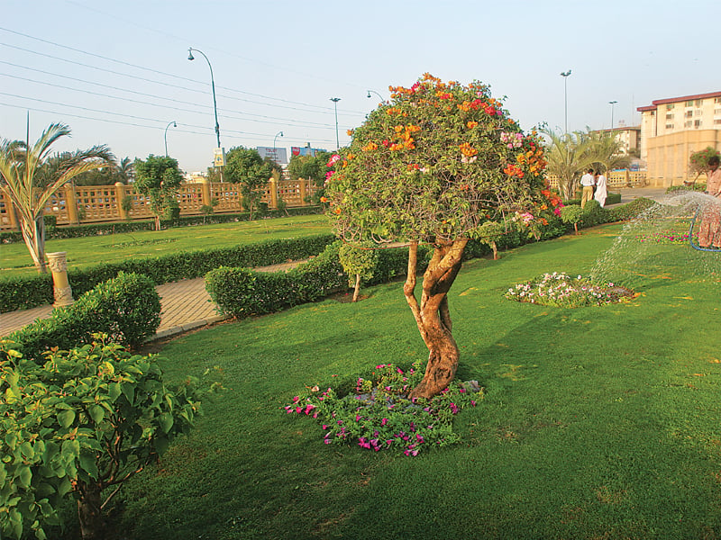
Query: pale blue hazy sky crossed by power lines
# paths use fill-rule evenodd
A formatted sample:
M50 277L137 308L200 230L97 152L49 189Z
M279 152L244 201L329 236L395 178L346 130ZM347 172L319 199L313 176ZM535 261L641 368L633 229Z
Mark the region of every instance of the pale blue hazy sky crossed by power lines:
M211 80L226 151L288 155L347 145L389 85L425 72L490 85L524 130L638 125L636 109L653 100L721 90L717 0L2 6L0 139L25 139L28 119L31 142L60 122L72 136L59 151L105 144L118 160L145 159L167 146L187 172L213 162ZM190 47L207 60L188 61Z

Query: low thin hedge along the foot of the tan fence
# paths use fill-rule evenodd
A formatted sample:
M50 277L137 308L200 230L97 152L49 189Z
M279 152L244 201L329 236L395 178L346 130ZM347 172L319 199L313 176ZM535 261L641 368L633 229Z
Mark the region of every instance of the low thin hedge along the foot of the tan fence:
M321 213L323 209L320 206L298 206L287 208L287 211L268 211L267 217L280 218L284 216L305 216L310 214ZM160 226L163 229L174 227L193 227L196 225L211 225L217 223L233 223L236 221L247 221L248 212L230 213L230 214L211 214L209 216L187 216L180 217L175 220L160 220ZM138 230L155 230L154 220L139 221L113 221L108 223L92 223L87 225L64 225L55 226L55 216L45 217L45 238L46 239L65 239L65 238L84 238L92 236L103 236L107 234L120 234L123 232L135 232ZM19 231L0 232L0 242L3 244L14 244L22 242L23 235Z

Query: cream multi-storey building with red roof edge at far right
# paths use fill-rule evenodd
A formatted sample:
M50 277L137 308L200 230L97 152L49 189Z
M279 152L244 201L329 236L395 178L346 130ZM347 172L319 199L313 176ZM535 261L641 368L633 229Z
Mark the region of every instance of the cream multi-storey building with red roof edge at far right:
M659 99L637 110L649 185L681 184L693 152L721 149L721 92Z

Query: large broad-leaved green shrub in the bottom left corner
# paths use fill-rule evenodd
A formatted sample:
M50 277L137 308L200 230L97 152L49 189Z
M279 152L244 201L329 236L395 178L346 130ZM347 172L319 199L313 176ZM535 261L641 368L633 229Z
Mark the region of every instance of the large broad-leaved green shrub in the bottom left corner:
M64 501L76 498L82 507L89 493L120 487L200 413L195 378L170 388L156 356L131 356L102 336L37 361L0 340L4 537L48 537Z

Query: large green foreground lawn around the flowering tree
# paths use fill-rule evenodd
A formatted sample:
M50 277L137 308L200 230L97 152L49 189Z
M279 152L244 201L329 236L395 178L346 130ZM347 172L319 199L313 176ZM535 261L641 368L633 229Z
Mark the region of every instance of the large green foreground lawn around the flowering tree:
M325 446L282 410L332 374L424 358L400 283L170 341L169 378L221 365L228 391L126 486L123 537L721 537L721 261L704 259L709 277L689 272L689 247L655 245L634 263L633 302L503 298L543 272L588 275L619 231L464 266L449 298L459 377L487 397L455 420L460 445L415 458Z

